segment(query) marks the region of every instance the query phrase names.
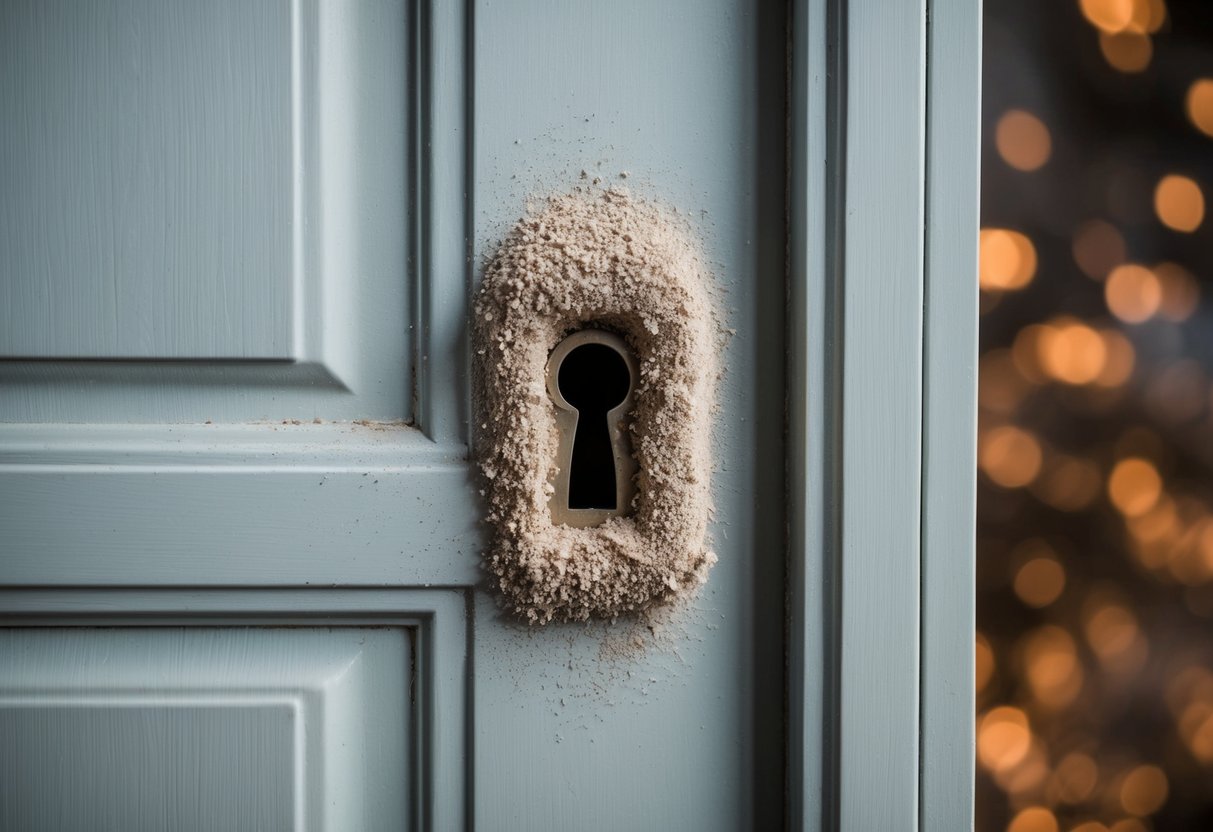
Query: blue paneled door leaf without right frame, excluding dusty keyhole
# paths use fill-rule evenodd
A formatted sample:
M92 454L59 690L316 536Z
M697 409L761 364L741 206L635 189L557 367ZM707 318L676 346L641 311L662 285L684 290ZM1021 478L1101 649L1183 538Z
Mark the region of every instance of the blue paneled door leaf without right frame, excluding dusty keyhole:
M779 827L786 62L746 0L0 2L0 828ZM610 187L711 275L718 563L529 625L473 291Z

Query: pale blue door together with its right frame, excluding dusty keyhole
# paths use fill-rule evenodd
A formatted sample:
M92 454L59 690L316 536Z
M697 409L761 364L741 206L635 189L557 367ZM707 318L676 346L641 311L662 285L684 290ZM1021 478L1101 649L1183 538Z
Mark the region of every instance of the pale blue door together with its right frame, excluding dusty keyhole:
M963 827L974 8L0 0L0 830ZM539 627L471 298L577 187L712 274L719 562Z

